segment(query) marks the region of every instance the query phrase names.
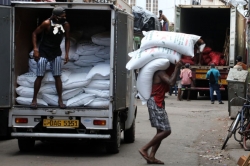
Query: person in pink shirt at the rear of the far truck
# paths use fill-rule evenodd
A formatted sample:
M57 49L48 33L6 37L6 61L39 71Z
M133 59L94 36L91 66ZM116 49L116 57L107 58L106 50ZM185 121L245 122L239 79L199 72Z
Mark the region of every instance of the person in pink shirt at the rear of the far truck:
M187 90L187 101L190 97L190 88L192 83L194 84L193 78L192 78L192 71L189 69L190 64L186 63L185 68L181 70L180 78L181 78L181 85L182 88L185 88Z

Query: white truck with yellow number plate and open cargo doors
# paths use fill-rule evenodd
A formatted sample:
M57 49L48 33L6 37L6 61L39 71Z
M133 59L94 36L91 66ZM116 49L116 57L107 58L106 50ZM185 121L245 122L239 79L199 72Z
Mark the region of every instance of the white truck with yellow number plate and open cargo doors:
M32 110L28 104L17 101L18 77L27 73L30 67L31 34L51 16L55 6L66 9L71 32L82 28L86 36L93 32L94 27L101 25L110 33L107 106L79 105L62 110L48 104ZM118 153L121 132L125 142L134 142L137 112L135 79L134 73L125 68L128 52L133 49L131 11L131 7L123 1L13 2L12 6L1 7L0 15L4 19L1 19L0 27L5 29L1 31L1 36L6 44L0 46L3 59L0 68L4 72L1 79L3 90L0 92L4 100L1 100L0 108L8 112L11 136L18 139L20 151L32 150L36 140L94 139L105 142L108 152Z

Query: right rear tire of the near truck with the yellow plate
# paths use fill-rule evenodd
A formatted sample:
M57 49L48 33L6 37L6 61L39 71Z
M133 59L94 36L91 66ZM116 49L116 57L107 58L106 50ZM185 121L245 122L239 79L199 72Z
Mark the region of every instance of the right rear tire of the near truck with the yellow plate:
M106 151L111 154L119 152L121 145L121 125L118 114L114 114L113 130L111 131L111 142L107 142Z

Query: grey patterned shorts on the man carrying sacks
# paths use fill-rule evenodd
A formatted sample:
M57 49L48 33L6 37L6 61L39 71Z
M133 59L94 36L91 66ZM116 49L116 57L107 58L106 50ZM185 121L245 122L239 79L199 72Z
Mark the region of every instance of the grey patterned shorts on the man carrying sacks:
M155 103L154 97L150 97L147 106L151 126L159 130L170 131L171 127L168 120L168 114L165 110L165 103L163 103L162 108L159 108Z

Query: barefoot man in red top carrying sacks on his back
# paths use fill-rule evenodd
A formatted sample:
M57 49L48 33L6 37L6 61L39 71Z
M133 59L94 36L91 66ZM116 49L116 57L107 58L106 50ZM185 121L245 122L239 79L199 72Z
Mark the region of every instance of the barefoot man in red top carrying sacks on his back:
M159 70L154 73L151 97L147 101L149 119L151 126L156 128L156 135L153 139L139 149L139 153L148 164L164 164L164 162L155 158L155 154L161 144L161 141L171 134L171 127L168 115L165 110L164 97L169 85L176 82L177 73L182 66L182 62L176 63L174 72L169 77L165 70ZM151 152L148 154L148 150Z

